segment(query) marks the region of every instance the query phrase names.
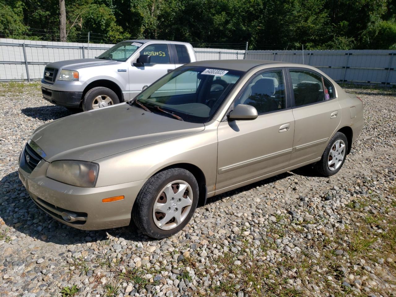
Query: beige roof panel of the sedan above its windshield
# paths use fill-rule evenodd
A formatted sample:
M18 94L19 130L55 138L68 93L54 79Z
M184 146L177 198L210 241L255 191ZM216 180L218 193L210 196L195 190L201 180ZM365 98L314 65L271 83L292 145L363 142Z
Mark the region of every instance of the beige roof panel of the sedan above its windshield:
M188 66L198 67L215 67L230 70L247 71L253 67L266 65L266 64L290 64L287 62L280 61L269 61L269 60L207 60L198 61L187 64Z

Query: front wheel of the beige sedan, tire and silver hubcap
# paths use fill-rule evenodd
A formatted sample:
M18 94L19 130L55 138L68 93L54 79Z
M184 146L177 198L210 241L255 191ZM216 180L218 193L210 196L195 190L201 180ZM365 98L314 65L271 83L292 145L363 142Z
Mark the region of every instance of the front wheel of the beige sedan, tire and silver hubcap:
M156 239L167 238L187 225L194 215L198 197L198 183L190 171L166 169L146 181L133 204L132 219L144 234Z

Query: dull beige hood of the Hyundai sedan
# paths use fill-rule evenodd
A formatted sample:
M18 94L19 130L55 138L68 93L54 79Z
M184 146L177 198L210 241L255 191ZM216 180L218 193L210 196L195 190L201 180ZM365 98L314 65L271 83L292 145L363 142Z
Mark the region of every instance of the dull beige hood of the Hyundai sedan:
M204 128L121 103L44 124L31 139L45 152L47 162L94 161Z

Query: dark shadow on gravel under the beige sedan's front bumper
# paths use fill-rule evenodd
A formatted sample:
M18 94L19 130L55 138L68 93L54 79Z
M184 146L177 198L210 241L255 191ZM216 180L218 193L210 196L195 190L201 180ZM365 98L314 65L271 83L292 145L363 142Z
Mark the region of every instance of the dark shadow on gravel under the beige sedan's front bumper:
M134 226L85 231L56 221L39 209L30 199L28 192L19 180L17 171L4 176L0 181L0 217L5 222L2 229L12 227L37 240L55 244L69 245L107 240L107 233L114 237L137 242L150 240L147 236L137 232L137 228Z

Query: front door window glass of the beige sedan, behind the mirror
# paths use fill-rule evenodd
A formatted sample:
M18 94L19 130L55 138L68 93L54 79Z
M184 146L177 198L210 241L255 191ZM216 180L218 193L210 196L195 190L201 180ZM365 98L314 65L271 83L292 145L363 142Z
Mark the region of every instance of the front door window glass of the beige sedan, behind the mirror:
M246 104L258 114L286 108L285 82L282 70L265 72L249 82L235 105Z

